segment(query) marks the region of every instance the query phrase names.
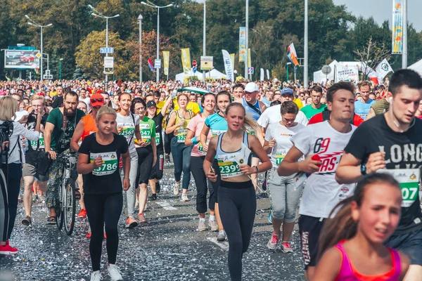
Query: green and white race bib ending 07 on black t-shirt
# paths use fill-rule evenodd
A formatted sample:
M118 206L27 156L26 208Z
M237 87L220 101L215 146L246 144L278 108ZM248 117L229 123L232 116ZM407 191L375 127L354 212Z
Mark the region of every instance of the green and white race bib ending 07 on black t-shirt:
M400 183L402 207L410 207L418 199L421 179L419 169L382 169L379 172L391 174Z

